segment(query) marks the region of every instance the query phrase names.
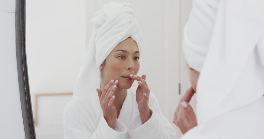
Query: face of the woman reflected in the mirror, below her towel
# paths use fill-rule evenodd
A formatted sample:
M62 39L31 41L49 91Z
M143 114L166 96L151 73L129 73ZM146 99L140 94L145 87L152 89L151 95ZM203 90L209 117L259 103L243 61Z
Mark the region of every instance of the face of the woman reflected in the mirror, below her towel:
M138 46L131 37L120 42L100 66L102 82L108 83L114 79L119 81L119 88L130 88L134 79L129 75L138 73L139 56Z

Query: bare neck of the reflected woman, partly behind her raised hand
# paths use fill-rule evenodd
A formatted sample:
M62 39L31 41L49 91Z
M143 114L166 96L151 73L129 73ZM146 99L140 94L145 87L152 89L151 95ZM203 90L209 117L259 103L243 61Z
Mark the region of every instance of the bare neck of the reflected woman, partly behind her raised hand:
M103 90L103 88L105 88L107 83L105 83L103 81L101 82L101 85L100 85L101 91ZM126 98L126 93L127 93L127 89L121 89L117 85L117 88L116 88L116 90L114 92L114 95L116 97L116 99L114 101L114 106L116 107L117 112L120 112L120 110L121 110L122 104L123 104L123 102L124 102L124 100Z

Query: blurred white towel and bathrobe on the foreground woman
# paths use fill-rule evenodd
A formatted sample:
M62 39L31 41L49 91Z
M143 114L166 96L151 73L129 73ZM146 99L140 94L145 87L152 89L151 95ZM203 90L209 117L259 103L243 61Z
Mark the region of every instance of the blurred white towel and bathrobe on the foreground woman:
M200 71L197 124L182 139L264 138L264 1L194 0L184 31Z

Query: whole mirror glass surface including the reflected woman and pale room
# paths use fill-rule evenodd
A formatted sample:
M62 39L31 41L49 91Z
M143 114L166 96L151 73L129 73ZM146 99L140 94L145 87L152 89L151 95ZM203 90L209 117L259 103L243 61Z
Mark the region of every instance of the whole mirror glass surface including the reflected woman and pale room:
M28 0L37 138L179 138L172 119L190 87L181 34L191 3Z

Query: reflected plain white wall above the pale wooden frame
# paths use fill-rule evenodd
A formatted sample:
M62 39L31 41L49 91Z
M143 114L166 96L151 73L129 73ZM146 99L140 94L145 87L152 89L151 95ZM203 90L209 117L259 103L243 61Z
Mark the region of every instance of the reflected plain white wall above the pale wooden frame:
M26 51L32 93L73 90L86 42L84 3L27 0Z

